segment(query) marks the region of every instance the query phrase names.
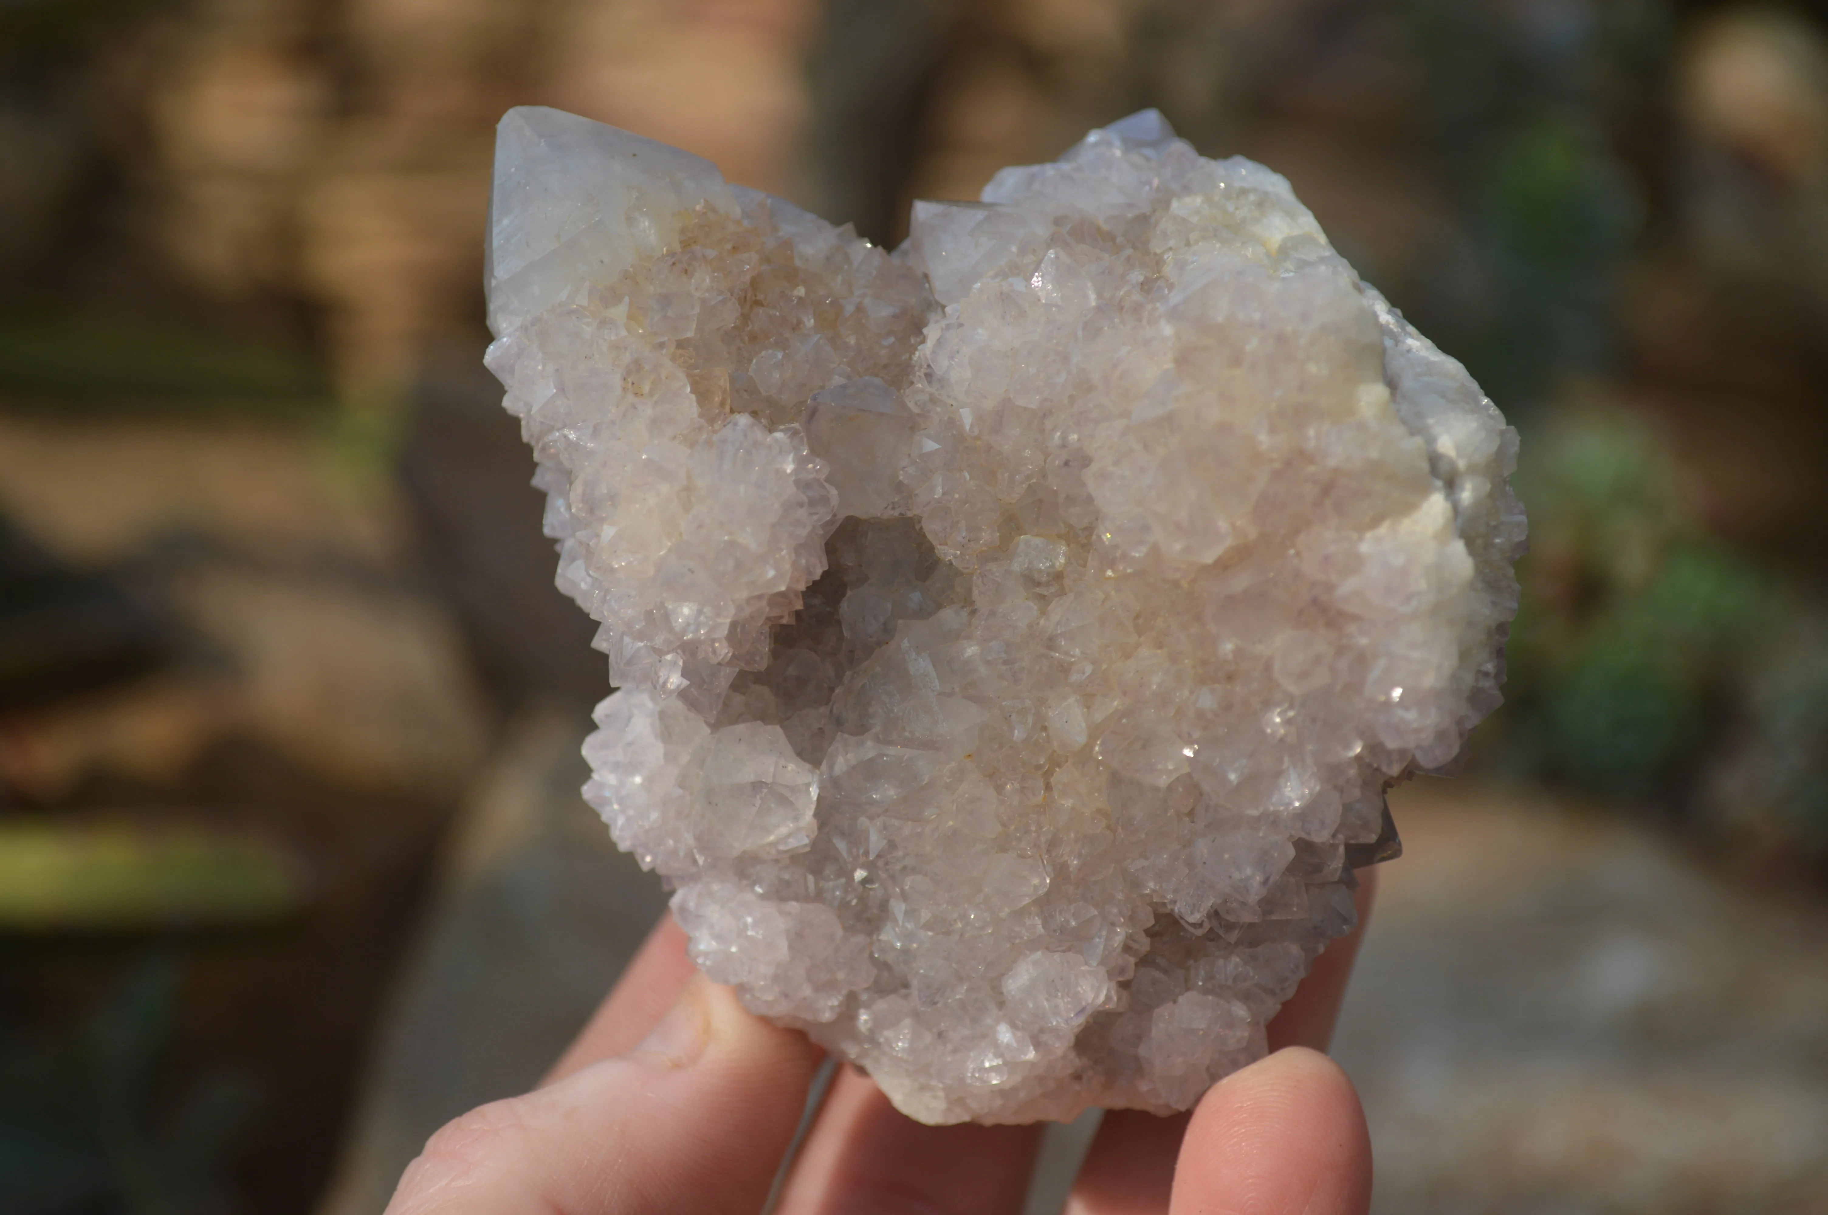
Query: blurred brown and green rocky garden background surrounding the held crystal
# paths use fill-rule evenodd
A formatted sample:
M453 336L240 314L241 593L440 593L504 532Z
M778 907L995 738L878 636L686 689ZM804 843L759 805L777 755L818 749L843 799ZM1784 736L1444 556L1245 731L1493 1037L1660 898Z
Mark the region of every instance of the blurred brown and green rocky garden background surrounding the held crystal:
M1340 1032L1378 1210L1828 1210L1828 16L1698 0L7 0L0 1210L378 1211L662 906L479 362L525 102L890 245L1142 106L1285 174L1532 524Z

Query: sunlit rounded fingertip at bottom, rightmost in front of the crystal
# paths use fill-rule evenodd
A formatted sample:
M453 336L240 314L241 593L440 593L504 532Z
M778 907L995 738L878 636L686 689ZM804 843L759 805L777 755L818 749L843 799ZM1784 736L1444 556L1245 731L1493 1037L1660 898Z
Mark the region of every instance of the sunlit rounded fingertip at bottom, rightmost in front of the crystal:
M1216 1083L1194 1107L1170 1215L1366 1215L1371 1133L1353 1082L1289 1047Z

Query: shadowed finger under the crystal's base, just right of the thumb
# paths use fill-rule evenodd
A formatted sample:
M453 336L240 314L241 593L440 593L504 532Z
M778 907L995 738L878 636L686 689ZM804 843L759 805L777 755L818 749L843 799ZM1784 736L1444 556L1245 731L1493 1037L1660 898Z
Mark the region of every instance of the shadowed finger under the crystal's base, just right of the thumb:
M819 1109L781 1215L1015 1215L1027 1195L1040 1125L930 1127L896 1111L850 1067Z

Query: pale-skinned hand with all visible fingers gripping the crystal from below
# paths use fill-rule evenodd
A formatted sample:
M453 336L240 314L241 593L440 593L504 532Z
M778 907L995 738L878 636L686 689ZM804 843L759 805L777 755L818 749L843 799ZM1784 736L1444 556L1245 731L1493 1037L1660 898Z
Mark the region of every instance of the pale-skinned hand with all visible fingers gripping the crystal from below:
M1115 1111L1068 1215L1364 1215L1371 1140L1333 1036L1360 926L1270 1023L1272 1052L1188 1113ZM755 1215L821 1052L698 976L664 917L537 1089L457 1118L388 1215ZM795 1160L781 1215L1016 1215L1040 1127L929 1127L845 1067Z

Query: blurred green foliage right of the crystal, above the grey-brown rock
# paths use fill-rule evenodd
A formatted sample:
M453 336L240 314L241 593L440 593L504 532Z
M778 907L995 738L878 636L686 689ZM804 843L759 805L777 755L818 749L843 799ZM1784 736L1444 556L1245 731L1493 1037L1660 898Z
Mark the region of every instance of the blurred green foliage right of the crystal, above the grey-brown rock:
M1508 720L1528 767L1720 817L1751 789L1744 773L1720 775L1748 724L1757 738L1795 736L1795 758L1812 742L1828 745L1828 658L1813 681L1757 691L1762 667L1791 669L1791 647L1773 638L1801 608L1704 535L1654 433L1605 409L1546 418L1526 446L1519 488L1532 554L1521 568ZM1775 813L1821 817L1810 809L1819 778L1795 758L1770 769L1782 789L1768 800L1786 808Z

